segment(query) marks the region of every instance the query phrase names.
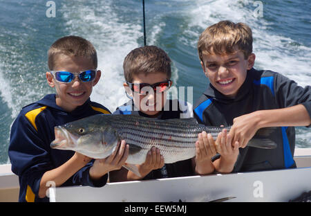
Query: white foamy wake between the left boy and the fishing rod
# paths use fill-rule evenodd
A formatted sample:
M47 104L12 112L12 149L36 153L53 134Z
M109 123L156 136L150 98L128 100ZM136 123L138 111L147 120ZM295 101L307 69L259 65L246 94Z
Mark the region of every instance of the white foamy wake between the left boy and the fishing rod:
M142 36L140 24L123 23L111 10L112 1L96 1L89 6L64 6L62 12L67 19L68 30L82 36L95 46L98 67L102 71L100 82L93 88L91 100L100 102L109 110L129 100L123 88L124 57L139 46ZM95 13L96 12L96 13Z

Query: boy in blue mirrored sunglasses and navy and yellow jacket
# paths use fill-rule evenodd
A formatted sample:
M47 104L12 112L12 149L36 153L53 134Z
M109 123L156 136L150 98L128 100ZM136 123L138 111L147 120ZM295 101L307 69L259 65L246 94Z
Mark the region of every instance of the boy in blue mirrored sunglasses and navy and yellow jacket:
M110 111L89 98L101 71L96 70L95 48L86 39L58 39L48 51L48 66L46 80L57 94L23 107L11 128L8 154L12 172L19 176L19 201L48 201L50 181L55 186L104 186L107 173L120 169L129 152L123 141L118 150L122 157L112 164L50 148L55 126Z

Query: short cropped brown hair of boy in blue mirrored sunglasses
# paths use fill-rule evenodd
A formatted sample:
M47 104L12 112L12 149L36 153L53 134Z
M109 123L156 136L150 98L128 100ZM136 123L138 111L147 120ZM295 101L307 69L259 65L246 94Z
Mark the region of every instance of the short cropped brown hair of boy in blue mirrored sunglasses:
M93 63L94 69L97 69L97 53L88 40L78 36L66 36L57 39L48 50L48 68L53 71L57 55L86 57Z

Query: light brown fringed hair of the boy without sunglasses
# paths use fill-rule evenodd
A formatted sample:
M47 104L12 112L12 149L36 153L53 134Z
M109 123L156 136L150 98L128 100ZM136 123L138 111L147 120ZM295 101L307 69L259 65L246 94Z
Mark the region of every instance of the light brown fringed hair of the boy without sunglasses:
M252 29L246 24L232 21L220 21L206 28L198 40L198 55L202 61L203 54L229 55L238 50L245 59L253 50ZM204 63L204 62L203 62Z

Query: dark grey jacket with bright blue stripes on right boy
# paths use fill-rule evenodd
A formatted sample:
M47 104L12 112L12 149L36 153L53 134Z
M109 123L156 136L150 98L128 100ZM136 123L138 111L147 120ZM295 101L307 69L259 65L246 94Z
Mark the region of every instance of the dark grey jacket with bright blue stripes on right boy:
M247 78L235 98L227 98L211 84L196 102L194 117L205 125L233 125L233 119L263 109L281 109L304 105L311 116L311 88L273 71L247 71ZM294 168L294 127L277 127L272 140L274 150L255 147L240 148L233 172Z

